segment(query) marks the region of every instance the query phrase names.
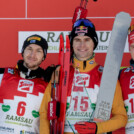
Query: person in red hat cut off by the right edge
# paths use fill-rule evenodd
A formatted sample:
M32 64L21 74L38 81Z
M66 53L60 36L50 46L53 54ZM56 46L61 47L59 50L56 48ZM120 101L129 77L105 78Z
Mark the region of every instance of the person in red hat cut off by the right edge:
M120 84L123 93L128 122L125 127L126 134L134 133L134 25L128 30L129 51L131 54L130 67L120 72Z

